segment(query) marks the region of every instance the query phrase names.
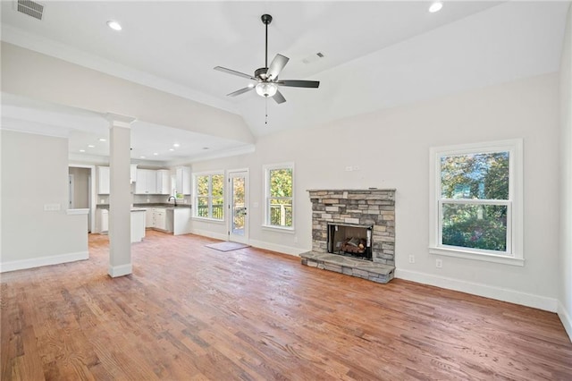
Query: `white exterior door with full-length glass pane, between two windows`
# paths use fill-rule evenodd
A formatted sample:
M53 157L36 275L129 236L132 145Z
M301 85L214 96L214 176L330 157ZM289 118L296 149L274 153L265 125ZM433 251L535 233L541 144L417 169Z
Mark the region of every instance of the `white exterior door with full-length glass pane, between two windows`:
M229 171L229 241L248 244L248 170Z

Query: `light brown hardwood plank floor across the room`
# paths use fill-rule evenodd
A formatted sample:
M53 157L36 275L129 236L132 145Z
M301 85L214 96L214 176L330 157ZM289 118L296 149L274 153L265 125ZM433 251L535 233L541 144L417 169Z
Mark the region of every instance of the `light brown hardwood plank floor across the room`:
M549 312L147 231L132 275L90 258L5 273L2 380L571 380Z

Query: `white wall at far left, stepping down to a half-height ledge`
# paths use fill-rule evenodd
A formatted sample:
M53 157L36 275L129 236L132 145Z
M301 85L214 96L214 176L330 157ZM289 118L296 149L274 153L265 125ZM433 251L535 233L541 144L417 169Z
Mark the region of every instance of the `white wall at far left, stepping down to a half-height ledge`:
M67 139L6 130L0 134L0 271L88 258L88 215L66 213ZM46 204L61 209L45 211Z

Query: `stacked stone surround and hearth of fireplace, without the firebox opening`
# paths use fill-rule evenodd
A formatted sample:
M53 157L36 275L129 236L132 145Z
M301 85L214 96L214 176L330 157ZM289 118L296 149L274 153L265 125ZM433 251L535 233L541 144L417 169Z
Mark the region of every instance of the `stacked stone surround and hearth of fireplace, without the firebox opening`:
M395 190L308 192L312 201L312 251L300 256L302 263L374 282L389 282L395 270ZM373 225L373 261L328 253L328 223Z

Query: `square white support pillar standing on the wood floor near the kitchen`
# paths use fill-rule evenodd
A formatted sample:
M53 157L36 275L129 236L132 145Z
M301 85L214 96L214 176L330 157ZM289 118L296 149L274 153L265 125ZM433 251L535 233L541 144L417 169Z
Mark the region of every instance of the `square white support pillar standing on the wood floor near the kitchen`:
M107 114L109 126L109 270L111 277L130 275L131 265L131 130L135 118Z

